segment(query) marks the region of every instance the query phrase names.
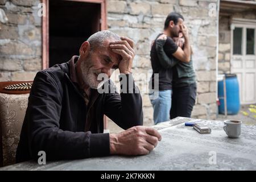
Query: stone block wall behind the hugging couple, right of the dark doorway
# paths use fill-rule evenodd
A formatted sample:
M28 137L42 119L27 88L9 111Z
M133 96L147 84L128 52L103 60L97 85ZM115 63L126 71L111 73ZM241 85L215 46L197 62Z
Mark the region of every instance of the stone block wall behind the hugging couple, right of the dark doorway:
M193 109L194 118L216 118L216 31L217 17L209 16L209 3L214 0L109 0L108 28L133 39L137 55L135 73L151 71L151 42L163 31L164 20L172 11L183 14L189 28L193 48L193 65L197 76L197 98ZM147 79L139 82L147 88ZM138 78L136 78L138 80ZM144 123L152 124L153 110L147 93L142 93Z

